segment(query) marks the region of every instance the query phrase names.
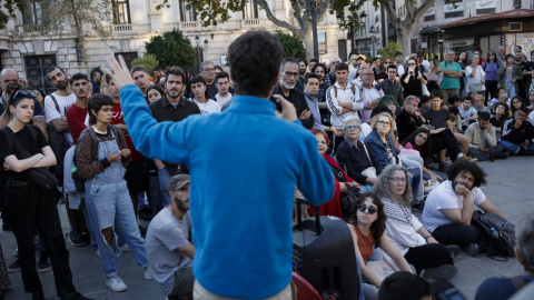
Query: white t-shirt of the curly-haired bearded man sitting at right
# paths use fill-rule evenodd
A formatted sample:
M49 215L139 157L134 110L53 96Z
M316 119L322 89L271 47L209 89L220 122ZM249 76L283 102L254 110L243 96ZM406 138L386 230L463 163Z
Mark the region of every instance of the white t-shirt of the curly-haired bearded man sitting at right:
M482 204L486 199L486 196L479 188L473 188L471 196L473 203L476 206ZM441 211L442 209L462 209L463 207L464 197L457 194L453 189L453 182L447 180L432 190L426 198L425 210L423 211L421 222L432 232L441 226L454 223Z

